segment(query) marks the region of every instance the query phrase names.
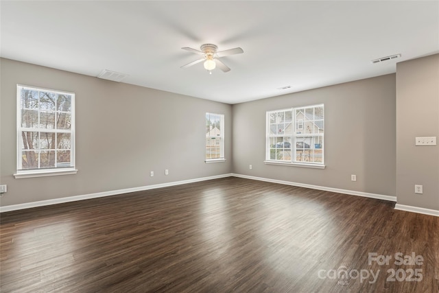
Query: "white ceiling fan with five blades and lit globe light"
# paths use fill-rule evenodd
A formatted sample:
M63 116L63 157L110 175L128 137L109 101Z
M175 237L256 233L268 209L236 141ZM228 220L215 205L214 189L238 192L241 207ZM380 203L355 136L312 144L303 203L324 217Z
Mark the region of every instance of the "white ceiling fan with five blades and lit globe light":
M218 47L216 45L213 45L213 44L201 45L201 47L200 47L201 51L199 51L197 49L192 49L189 47L183 47L182 49L189 51L189 52L192 52L192 53L195 53L195 54L204 55L204 56L201 59L190 62L187 65L183 65L181 68L185 69L187 67L191 67L192 65L195 65L197 63L204 61L204 69L209 71L209 73L211 73L211 74L212 74L211 71L213 69L215 69L215 67L218 67L219 69L221 69L224 72L230 71L230 68L228 68L221 60L219 60L219 58L222 58L222 57L228 56L228 55L235 55L235 54L244 53L243 49L241 49L239 47L224 50L224 51L217 51Z

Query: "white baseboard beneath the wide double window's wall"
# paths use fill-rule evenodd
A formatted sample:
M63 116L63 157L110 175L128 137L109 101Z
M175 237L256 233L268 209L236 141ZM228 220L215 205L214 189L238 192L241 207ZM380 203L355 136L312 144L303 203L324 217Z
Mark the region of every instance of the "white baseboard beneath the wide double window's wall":
M388 200L391 202L396 202L396 196L384 196L382 194L369 194L368 192L361 192L361 191L354 191L354 190L347 190L347 189L338 189L338 188L333 188L333 187L324 187L324 186L310 185L310 184L304 184L304 183L295 183L295 182L291 182L291 181L276 180L276 179L270 179L270 178L241 175L241 174L232 174L232 176L239 177L239 178L252 179L252 180L265 181L265 182L270 182L270 183L279 183L279 184L283 184L283 185L292 185L292 186L297 186L297 187L305 187L305 188L310 188L310 189L331 191L331 192L336 192L338 194L349 194L351 196L363 196L365 198L376 198L378 200Z

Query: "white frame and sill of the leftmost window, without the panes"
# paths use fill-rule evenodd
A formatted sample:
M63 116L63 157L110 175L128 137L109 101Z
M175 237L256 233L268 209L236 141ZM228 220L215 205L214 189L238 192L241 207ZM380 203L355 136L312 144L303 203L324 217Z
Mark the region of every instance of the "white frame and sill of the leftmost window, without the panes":
M46 93L55 93L60 95L70 95L71 96L71 126L70 129L58 129L55 127L54 129L51 128L25 128L21 125L21 114L22 114L22 108L21 108L21 94L23 90L32 90L32 91L38 91L38 92L46 92ZM39 102L39 97L38 97ZM67 91L57 91L52 89L42 89L34 86L25 86L21 84L17 84L16 87L16 174L14 174L15 178L30 178L30 177L41 177L41 176L55 176L55 175L66 175L66 174L76 174L78 172L78 169L75 168L75 93L67 92ZM58 110L55 110L55 113L58 113ZM38 113L40 112L40 108L38 108ZM49 111L50 113L50 111ZM56 124L56 121L55 121ZM43 168L38 166L36 169L23 169L23 150L21 146L23 145L22 142L22 132L38 132L38 135L40 133L47 133L47 132L54 132L54 133L69 133L70 134L70 162L67 163L68 166L65 167L65 163L60 163L59 166L57 166L57 163L55 163L54 167L48 167ZM56 137L56 136L55 136ZM56 148L55 151L55 162L57 161L57 151L58 149L57 143L55 143ZM40 156L41 150L40 146L36 150L36 154ZM39 164L39 160L38 160Z

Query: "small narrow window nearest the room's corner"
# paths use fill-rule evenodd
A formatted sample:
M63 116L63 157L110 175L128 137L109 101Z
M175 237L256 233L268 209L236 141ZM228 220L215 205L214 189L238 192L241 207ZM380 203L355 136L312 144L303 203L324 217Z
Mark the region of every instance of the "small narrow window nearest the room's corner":
M224 115L206 113L206 162L224 160Z

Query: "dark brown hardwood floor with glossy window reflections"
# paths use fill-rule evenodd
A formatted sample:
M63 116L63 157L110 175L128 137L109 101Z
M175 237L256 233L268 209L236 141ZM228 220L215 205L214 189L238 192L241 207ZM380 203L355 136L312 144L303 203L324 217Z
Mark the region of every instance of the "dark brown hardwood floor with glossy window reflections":
M0 220L1 292L439 292L439 218L359 196L230 177Z

